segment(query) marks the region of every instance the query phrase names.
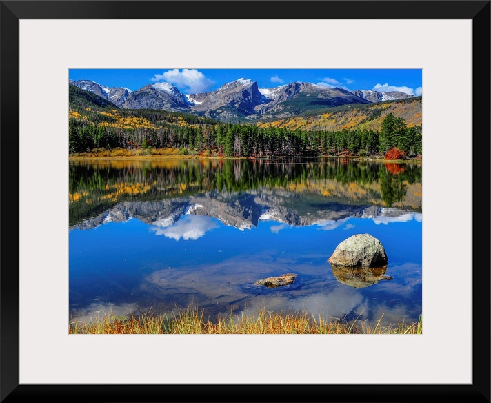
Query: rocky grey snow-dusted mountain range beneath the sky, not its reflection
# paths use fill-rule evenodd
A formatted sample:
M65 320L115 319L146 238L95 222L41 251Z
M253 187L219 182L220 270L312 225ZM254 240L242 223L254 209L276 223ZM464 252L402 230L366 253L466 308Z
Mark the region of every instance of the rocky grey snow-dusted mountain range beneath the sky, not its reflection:
M275 88L259 88L256 81L243 78L223 84L217 90L197 94L183 94L176 86L165 82L148 84L136 91L110 88L90 80L69 80L69 83L119 108L185 112L220 121L283 119L310 110L413 97L404 92L351 92L299 81Z

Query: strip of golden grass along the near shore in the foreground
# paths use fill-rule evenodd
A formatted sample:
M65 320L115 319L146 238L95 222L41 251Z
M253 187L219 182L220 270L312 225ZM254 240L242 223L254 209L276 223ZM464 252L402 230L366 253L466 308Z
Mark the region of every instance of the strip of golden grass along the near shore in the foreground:
M382 315L383 316L383 315ZM332 318L326 320L312 313L283 311L274 313L259 310L251 315L227 315L211 321L205 319L204 311L197 306L179 309L172 315L143 314L107 315L90 322L71 322L70 334L404 334L421 335L423 326L419 321L406 324L382 325L382 317L377 324L370 325L357 320Z

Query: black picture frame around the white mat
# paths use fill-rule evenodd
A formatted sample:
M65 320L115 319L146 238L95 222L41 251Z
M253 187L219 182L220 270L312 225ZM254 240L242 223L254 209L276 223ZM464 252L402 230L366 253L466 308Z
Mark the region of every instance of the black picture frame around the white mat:
M0 221L1 402L490 402L490 1L287 0L278 5L1 1L1 204L6 212ZM172 19L184 10L186 19L472 20L472 384L19 384L19 253L14 253L20 213L19 20ZM453 331L459 331L458 324Z

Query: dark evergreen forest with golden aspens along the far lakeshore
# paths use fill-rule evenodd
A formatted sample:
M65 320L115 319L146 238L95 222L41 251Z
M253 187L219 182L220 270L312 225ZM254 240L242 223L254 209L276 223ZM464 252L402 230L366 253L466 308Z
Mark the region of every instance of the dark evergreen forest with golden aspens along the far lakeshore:
M70 85L69 153L90 150L177 148L181 155L218 157L383 156L393 148L421 156L421 126L389 112L379 130L302 130L223 123L179 112L121 109Z

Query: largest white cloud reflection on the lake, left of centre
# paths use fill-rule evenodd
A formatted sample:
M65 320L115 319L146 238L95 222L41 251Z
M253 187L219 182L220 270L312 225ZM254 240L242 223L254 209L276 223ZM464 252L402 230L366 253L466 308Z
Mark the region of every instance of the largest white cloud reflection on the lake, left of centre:
M217 228L217 223L210 217L201 215L186 215L176 224L168 227L152 227L155 235L164 235L170 239L184 239L185 241L201 238L205 233L213 228Z

